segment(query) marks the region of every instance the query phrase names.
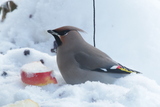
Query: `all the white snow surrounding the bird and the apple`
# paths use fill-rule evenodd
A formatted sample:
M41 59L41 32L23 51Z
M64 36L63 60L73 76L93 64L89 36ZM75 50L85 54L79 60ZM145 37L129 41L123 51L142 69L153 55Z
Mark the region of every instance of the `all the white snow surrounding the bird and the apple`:
M3 3L1 0L0 3ZM31 99L41 107L159 107L160 106L160 1L96 1L96 47L114 60L142 72L114 84L87 81L66 84L58 70L48 29L70 25L87 33L92 42L92 1L14 0L18 9L0 23L0 106ZM73 5L74 4L74 5ZM24 55L30 50L29 55ZM58 84L25 85L24 64L44 61Z

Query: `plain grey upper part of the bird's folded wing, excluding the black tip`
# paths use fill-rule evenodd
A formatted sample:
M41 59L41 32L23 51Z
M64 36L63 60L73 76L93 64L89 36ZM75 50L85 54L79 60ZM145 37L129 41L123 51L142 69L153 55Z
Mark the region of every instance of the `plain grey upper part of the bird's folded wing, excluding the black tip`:
M110 57L105 54L79 52L75 54L75 60L82 69L94 70L98 68L109 68L116 65Z

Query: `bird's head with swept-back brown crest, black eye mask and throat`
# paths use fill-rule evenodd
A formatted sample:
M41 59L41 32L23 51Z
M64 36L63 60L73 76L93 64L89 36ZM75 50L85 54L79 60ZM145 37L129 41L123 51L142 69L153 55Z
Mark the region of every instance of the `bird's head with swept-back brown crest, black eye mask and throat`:
M65 37L68 35L70 31L81 31L83 30L73 27L73 26L63 26L54 30L47 30L48 33L52 34L57 42L57 45L62 45Z

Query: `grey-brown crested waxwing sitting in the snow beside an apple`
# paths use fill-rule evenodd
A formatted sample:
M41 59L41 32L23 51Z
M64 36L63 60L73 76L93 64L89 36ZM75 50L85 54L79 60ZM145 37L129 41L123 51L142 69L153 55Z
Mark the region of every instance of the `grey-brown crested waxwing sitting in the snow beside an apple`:
M47 30L57 43L57 65L67 84L99 81L113 84L119 78L140 72L114 61L106 53L87 43L74 26L62 26Z

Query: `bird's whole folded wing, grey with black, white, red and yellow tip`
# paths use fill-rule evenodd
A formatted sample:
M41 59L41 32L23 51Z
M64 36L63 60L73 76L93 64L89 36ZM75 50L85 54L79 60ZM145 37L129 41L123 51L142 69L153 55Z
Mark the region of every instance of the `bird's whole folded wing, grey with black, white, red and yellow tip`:
M97 54L90 55L80 52L75 54L75 60L81 69L87 69L90 71L121 74L140 73L114 62L110 57Z

